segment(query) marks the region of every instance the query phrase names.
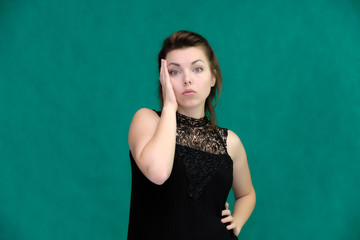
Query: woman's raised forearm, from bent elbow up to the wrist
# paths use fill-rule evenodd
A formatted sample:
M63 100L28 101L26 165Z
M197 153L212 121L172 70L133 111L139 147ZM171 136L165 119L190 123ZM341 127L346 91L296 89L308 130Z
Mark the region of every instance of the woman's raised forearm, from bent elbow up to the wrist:
M175 155L176 110L163 108L154 136L146 144L140 158L146 158L149 179L162 184L170 176Z

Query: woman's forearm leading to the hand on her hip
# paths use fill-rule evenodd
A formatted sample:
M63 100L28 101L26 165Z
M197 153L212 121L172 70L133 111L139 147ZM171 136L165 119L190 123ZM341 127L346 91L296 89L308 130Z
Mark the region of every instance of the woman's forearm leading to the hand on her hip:
M252 189L248 194L235 199L233 208L234 222L240 229L244 226L252 211L254 210L256 202L255 190Z

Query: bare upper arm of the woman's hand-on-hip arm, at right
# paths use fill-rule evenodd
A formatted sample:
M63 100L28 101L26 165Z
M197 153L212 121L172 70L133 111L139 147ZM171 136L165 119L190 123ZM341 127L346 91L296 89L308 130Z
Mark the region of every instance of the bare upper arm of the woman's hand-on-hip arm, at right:
M227 138L228 153L233 160L233 191L235 198L247 195L254 190L246 152L240 138L231 130L228 130Z

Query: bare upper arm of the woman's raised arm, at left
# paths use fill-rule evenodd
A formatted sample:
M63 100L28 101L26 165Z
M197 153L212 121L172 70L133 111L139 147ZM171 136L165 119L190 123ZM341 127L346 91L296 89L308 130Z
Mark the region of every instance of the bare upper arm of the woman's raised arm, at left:
M158 123L159 116L155 111L148 108L139 109L131 121L128 143L130 151L140 169L141 163L139 159L141 152L154 136Z

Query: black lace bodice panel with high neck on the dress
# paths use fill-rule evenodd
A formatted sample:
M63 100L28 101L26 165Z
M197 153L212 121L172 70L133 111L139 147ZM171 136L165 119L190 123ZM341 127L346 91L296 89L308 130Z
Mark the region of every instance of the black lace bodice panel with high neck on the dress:
M175 159L185 165L188 194L200 198L203 188L219 169L232 168L226 151L227 129L215 126L204 116L196 119L176 113Z

